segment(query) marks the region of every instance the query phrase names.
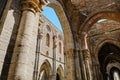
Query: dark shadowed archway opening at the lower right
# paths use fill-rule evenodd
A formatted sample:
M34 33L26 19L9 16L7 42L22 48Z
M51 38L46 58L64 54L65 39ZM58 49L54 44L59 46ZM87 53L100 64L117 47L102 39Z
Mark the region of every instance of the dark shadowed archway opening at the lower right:
M103 80L110 78L108 74L110 74L108 69L113 66L113 63L120 63L120 47L116 46L113 43L105 42L98 51L98 61L100 64L100 70L103 74ZM112 66L111 66L112 65ZM110 69L111 69L110 68Z

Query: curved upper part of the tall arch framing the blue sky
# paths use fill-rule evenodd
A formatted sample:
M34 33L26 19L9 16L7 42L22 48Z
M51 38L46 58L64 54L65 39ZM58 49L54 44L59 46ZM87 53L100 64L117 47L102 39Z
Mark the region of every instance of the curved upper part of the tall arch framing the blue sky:
M69 49L73 49L74 44L73 44L72 32L71 32L69 22L67 20L67 17L65 15L65 12L64 12L61 4L58 1L54 0L54 1L50 1L50 3L48 3L47 6L52 7L55 10L55 12L60 20L60 23L61 23L61 26L63 29L63 33L64 33L64 40L66 43L65 51L69 51Z

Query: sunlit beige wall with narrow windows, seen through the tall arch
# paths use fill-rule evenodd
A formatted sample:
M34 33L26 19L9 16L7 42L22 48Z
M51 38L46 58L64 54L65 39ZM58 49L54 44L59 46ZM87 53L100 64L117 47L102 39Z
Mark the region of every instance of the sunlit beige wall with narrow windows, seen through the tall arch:
M64 63L64 36L63 32L59 31L48 19L43 15L40 15L40 32L42 33L41 44L40 44L40 62L39 68L44 63L45 60L48 60L52 70L53 68L58 69L59 66L62 66L63 70L65 67ZM50 36L50 45L46 45L46 35ZM56 36L56 50L54 48L53 37ZM61 43L61 53L59 51L59 43ZM54 53L55 50L55 53ZM55 67L54 62L55 60ZM63 72L64 73L64 72ZM55 73L56 74L56 73ZM62 74L64 75L64 74Z

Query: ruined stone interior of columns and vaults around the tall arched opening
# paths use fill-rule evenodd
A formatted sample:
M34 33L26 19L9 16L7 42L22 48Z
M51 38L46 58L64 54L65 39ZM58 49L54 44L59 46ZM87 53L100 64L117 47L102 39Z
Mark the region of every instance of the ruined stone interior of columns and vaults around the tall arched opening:
M38 29L44 6L52 7L60 20L65 56L64 78L59 78L63 75L59 69L61 75L50 74L47 79L120 79L119 0L1 0L2 80L39 80L40 66L36 62L41 61L35 53L37 35L42 34ZM100 19L106 21L98 23Z

